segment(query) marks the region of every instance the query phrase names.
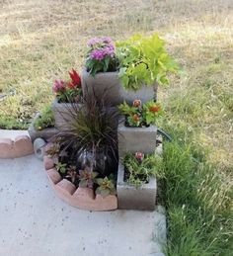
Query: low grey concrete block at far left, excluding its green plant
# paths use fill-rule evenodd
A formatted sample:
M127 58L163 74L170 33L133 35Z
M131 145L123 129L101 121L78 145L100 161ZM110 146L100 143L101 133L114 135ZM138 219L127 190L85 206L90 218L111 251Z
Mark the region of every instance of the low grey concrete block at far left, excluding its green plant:
M47 140L59 132L59 130L57 128L43 128L41 130L37 130L34 125L35 125L36 120L39 118L39 115L40 114L38 113L35 116L30 128L28 129L32 141L35 141L39 137Z

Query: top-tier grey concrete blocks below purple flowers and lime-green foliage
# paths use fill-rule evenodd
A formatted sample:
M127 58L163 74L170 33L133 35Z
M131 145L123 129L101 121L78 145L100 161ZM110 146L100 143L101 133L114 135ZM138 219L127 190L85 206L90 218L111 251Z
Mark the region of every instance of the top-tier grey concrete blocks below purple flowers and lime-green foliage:
M82 73L82 88L84 95L95 92L98 99L103 100L105 96L108 105L116 106L123 101L132 104L135 99L140 99L142 103L154 99L157 94L157 86L143 86L140 90L126 91L123 89L118 78L118 72L97 73L95 77L85 69Z

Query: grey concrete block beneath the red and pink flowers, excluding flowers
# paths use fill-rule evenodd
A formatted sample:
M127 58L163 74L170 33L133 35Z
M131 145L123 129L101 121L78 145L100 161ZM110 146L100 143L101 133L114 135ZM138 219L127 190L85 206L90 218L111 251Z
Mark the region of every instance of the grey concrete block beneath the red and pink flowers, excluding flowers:
M78 110L80 106L81 104L78 103L58 103L55 99L51 106L55 119L55 128L59 130L69 128L73 110L74 108Z

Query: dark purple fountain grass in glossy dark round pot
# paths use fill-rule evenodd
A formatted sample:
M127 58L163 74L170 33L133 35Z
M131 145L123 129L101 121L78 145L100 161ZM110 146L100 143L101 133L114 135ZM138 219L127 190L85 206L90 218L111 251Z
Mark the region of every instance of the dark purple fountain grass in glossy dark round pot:
M100 183L95 181L96 177L104 179L116 174L117 115L116 110L106 108L93 95L84 97L83 104L72 109L68 128L52 138L58 139L59 162L67 167L62 172L63 178L69 177L76 185L96 190ZM71 166L72 171L68 169Z

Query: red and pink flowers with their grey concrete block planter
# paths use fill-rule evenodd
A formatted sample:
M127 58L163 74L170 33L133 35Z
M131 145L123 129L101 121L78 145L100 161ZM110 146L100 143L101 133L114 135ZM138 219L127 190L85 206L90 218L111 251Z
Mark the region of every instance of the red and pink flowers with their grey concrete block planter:
M82 84L81 77L76 70L69 72L70 80L55 80L52 91L55 100L52 104L54 113L55 127L64 129L72 118L71 111L81 104L82 100ZM72 105L72 106L71 106Z

